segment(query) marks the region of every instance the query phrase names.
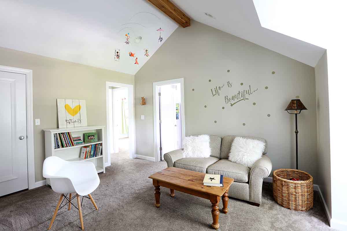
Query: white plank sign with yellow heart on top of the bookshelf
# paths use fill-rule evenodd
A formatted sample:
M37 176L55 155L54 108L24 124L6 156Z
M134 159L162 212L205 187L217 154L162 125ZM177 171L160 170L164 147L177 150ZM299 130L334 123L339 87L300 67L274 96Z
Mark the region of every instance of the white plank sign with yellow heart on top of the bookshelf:
M87 126L86 101L57 99L59 128Z

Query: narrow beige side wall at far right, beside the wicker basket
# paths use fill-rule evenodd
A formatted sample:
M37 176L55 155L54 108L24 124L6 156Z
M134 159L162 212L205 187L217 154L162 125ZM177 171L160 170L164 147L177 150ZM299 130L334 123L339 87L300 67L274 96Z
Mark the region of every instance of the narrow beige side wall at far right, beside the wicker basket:
M331 217L330 126L327 52L314 68L317 102L317 171L319 185Z

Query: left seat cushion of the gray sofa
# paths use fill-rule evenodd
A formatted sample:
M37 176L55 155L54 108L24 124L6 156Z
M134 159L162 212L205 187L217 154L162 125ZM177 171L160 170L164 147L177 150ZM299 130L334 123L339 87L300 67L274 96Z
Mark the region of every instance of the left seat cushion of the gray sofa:
M204 172L206 173L207 167L217 162L219 158L217 157L208 157L208 158L182 158L176 160L174 163L174 167L187 169L196 172Z

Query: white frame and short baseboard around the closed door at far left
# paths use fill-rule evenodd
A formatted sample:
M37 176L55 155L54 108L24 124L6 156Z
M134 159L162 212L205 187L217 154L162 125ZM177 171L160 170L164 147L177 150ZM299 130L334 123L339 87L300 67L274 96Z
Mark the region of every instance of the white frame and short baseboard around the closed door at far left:
M26 144L28 157L28 189L40 187L45 180L35 181L35 158L34 158L34 113L33 113L33 70L1 66L0 71L25 74L26 89Z

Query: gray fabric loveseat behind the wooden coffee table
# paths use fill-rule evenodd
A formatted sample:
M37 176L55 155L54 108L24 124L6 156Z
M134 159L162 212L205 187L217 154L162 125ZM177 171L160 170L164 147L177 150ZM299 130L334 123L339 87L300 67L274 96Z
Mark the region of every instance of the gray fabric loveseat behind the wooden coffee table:
M219 174L234 179L229 188L229 196L249 201L259 206L262 198L263 178L270 175L272 163L265 154L268 151L268 142L259 137L242 136L263 141L265 151L261 159L257 160L252 168L228 160L231 144L236 136L217 135L210 136L211 156L208 158L183 158L183 149L174 150L164 154L168 167L182 168L208 174Z

